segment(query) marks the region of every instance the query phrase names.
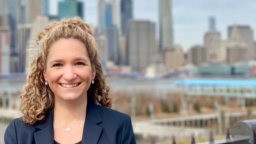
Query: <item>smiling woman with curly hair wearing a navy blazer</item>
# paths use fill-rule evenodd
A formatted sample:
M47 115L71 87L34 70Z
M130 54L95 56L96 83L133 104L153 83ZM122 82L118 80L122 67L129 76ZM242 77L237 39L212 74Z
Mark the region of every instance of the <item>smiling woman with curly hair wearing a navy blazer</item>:
M5 144L136 143L131 118L109 109L109 87L94 38L80 18L63 19L38 34L42 52L31 64L20 110Z

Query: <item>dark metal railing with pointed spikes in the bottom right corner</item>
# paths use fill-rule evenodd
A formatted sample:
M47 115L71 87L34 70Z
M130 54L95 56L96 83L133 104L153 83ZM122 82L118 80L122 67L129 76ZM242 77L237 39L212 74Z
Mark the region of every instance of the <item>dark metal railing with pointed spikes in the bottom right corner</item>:
M175 140L173 144L176 144ZM194 137L192 137L191 144L196 144ZM256 144L256 120L246 120L237 123L232 128L231 134L229 129L227 130L226 139L214 141L211 132L208 142L197 144Z

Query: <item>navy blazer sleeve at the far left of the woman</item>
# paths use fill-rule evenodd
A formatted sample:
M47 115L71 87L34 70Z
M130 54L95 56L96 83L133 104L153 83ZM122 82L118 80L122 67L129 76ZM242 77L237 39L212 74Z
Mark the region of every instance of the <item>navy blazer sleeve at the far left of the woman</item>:
M5 130L4 143L5 144L17 144L16 128L15 128L14 120L11 120L10 124L8 125L7 129Z

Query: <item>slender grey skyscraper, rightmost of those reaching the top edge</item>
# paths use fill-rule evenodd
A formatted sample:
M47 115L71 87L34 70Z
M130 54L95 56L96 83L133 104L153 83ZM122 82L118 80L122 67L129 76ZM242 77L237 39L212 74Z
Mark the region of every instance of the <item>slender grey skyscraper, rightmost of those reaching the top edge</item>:
M159 0L159 51L173 50L172 0Z

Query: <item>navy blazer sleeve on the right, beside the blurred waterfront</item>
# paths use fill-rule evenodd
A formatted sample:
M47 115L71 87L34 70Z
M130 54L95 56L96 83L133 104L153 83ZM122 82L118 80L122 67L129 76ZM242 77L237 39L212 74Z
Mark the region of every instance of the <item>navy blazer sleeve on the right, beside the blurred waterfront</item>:
M132 129L132 121L129 115L126 115L124 120L121 144L136 144L135 136Z

